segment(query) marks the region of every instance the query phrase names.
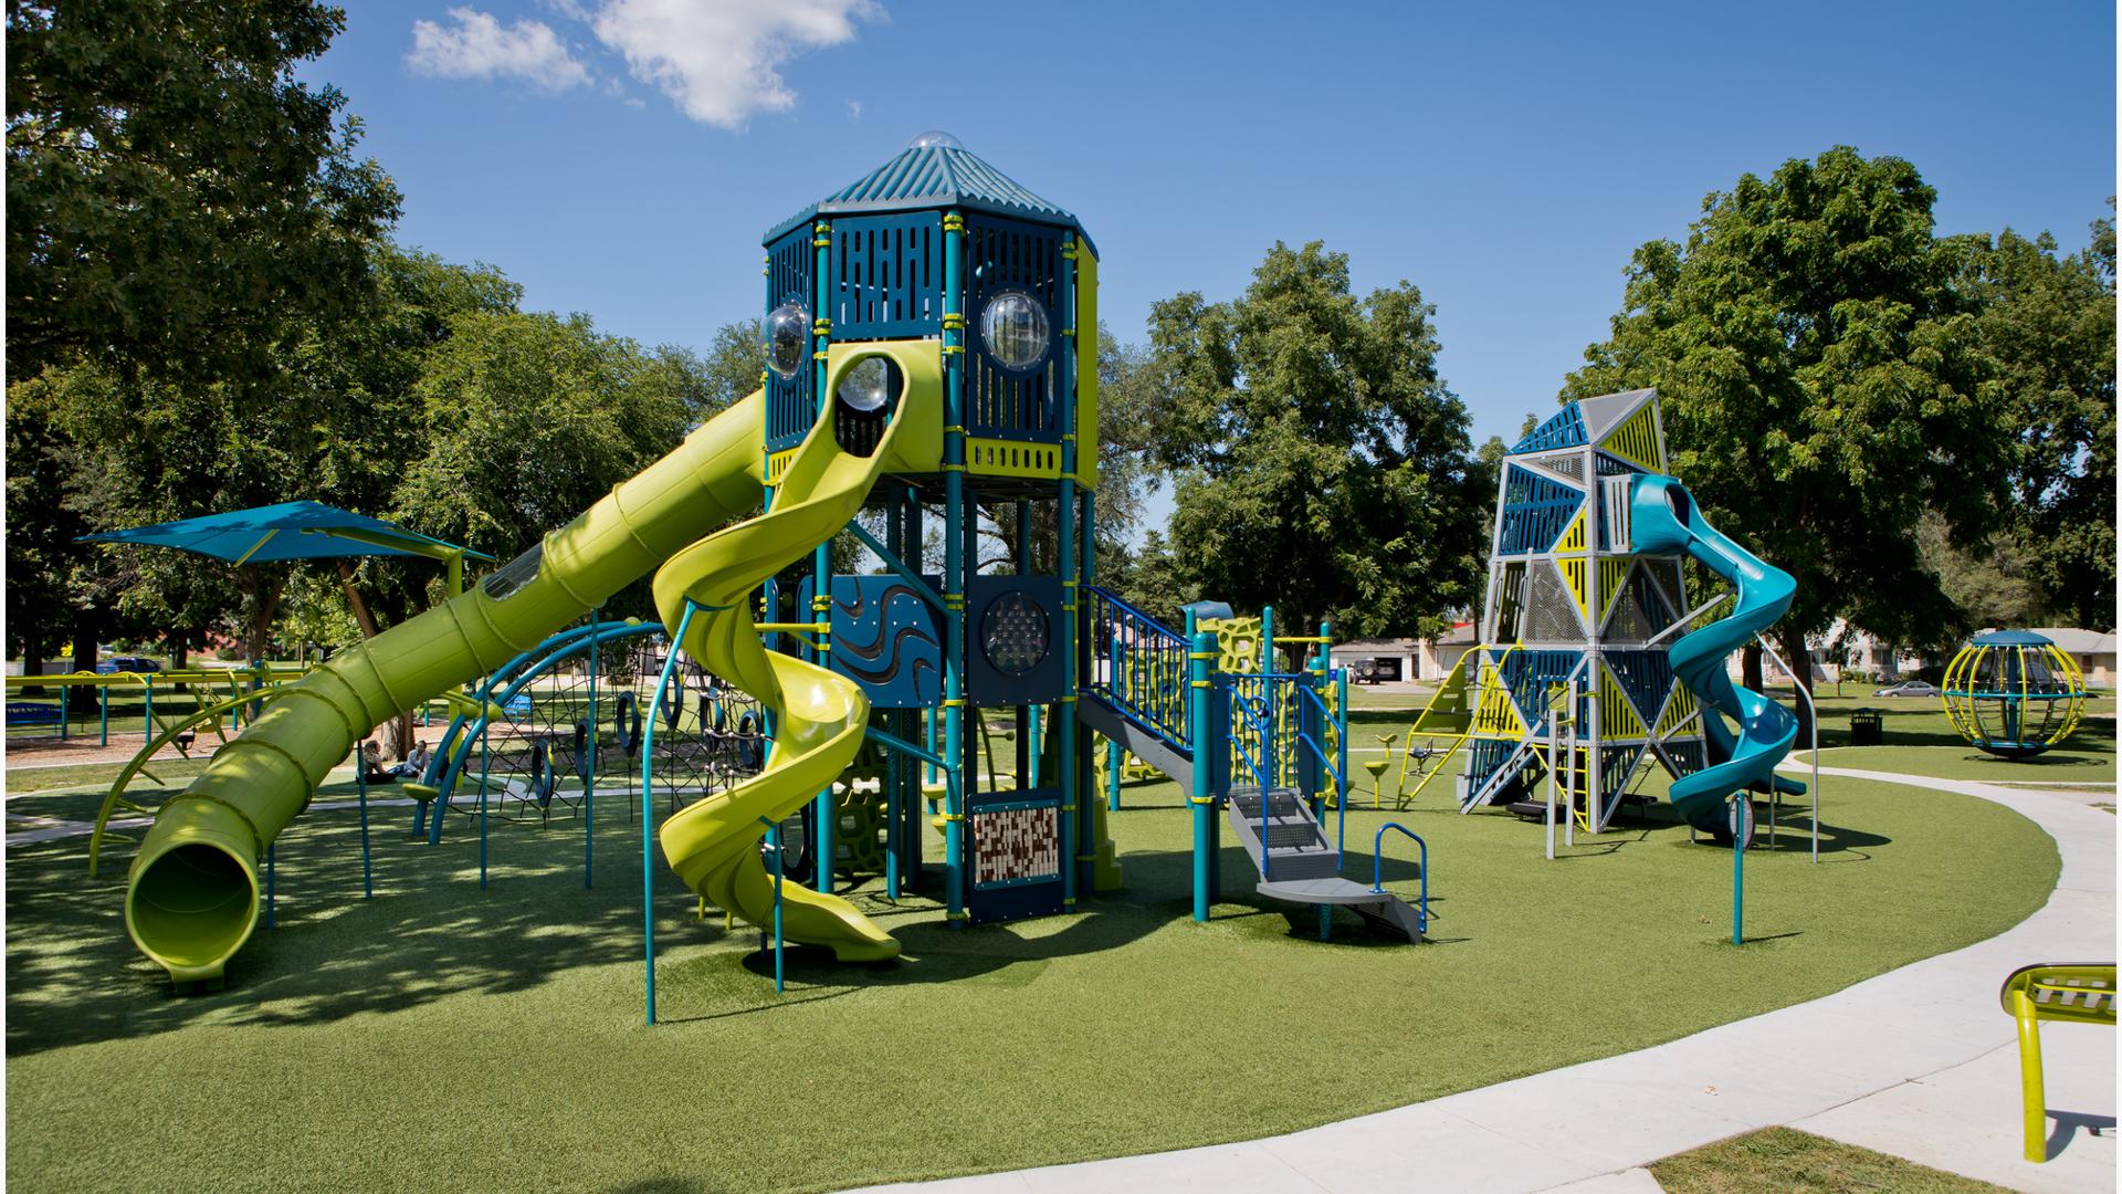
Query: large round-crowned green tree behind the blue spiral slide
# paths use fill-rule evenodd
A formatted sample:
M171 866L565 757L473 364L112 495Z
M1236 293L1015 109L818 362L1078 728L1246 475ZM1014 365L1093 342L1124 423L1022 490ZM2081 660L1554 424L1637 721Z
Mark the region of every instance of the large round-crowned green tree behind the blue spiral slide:
M1636 251L1613 336L1564 385L1657 387L1704 514L1797 580L1778 635L1808 682L1804 635L1836 614L1886 642L1954 635L1916 525L1935 510L1978 544L1999 523L2010 433L1954 285L1971 249L1933 238L1935 198L1848 147L1744 174L1685 246Z

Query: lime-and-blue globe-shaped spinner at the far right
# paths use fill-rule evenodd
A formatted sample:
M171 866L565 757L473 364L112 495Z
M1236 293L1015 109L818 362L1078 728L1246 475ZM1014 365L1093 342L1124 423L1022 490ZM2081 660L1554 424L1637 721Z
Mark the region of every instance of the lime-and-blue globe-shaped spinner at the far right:
M2086 678L2046 635L1993 631L1946 665L1946 716L1976 748L2033 758L2071 737L2086 712Z

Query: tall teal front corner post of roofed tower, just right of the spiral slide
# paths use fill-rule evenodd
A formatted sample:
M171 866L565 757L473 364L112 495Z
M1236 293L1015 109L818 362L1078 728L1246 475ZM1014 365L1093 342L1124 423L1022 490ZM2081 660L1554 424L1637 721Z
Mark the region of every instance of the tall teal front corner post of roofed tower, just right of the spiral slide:
M963 212L942 217L942 756L944 769L944 922L966 926L966 314ZM1067 869L1067 863L1063 863Z

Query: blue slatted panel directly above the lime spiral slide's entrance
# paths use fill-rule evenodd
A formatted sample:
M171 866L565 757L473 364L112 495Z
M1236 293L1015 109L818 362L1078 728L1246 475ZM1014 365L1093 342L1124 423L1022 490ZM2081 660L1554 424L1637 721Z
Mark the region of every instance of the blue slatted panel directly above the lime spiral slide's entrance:
M832 221L825 278L834 340L942 334L942 212Z

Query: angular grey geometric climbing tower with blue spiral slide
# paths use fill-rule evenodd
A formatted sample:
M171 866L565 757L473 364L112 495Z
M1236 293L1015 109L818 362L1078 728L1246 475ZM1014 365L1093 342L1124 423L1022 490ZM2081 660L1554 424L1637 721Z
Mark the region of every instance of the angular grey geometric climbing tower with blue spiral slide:
M1543 818L1553 856L1558 814L1568 841L1604 831L1653 761L1687 824L1719 841L1751 839L1734 797L1806 792L1776 775L1797 718L1725 671L1749 642L1776 659L1759 635L1791 605L1791 578L1717 533L1664 470L1651 389L1572 402L1511 448L1481 646L1409 731L1443 752L1415 795L1464 752L1460 809ZM1734 593L1691 603L1683 557ZM1689 631L1727 599L1725 618Z

